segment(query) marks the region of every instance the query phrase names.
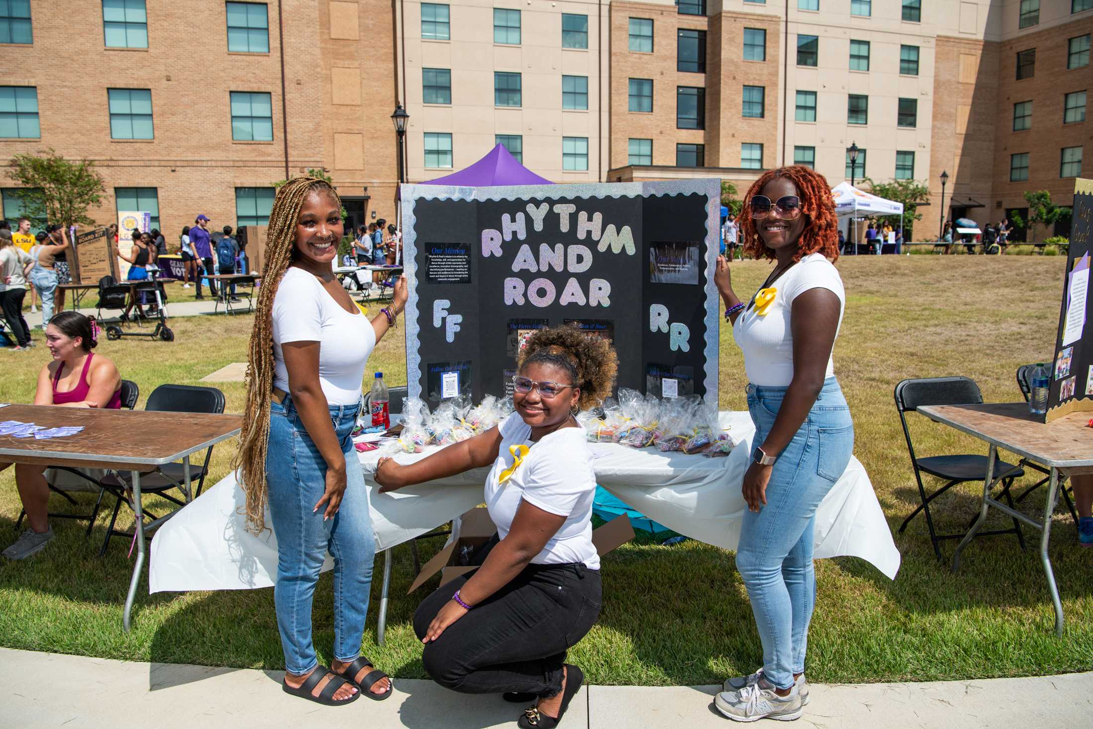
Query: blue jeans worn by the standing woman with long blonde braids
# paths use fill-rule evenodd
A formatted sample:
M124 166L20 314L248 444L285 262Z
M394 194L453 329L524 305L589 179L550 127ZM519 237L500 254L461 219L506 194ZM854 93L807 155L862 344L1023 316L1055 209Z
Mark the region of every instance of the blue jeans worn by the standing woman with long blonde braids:
M266 481L278 543L273 602L285 668L299 675L318 665L312 643L312 597L327 550L334 558L334 658L350 662L361 655L376 542L364 472L350 435L360 404L330 407L346 468L341 507L326 521L325 505L313 512L326 491L326 461L307 435L292 396L270 408Z

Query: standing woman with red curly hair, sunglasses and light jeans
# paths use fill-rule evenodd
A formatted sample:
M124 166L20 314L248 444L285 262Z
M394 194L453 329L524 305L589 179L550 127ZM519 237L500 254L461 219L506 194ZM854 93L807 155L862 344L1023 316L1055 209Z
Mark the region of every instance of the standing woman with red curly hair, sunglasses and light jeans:
M755 423L737 569L763 643L763 668L730 678L715 705L730 719L796 719L809 701L804 650L815 604L813 529L820 502L850 460L854 423L831 352L846 301L835 203L823 175L764 173L740 215L744 250L775 262L748 301L720 257L714 280L743 350Z

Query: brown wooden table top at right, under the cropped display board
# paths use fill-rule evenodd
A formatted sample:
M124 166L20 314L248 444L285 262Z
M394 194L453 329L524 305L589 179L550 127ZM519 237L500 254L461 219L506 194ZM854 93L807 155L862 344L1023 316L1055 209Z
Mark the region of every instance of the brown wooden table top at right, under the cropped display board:
M1093 472L1093 427L1089 412L1041 423L1025 402L924 405L918 412L1000 448L1069 473Z

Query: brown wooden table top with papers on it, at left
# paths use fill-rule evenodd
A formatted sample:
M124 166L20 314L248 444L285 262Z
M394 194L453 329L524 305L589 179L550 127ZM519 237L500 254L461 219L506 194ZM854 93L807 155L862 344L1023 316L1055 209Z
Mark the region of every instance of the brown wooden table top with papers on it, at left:
M0 462L131 470L171 463L239 433L240 415L10 404L0 422L83 425L62 438L0 435ZM139 469L138 469L139 470Z

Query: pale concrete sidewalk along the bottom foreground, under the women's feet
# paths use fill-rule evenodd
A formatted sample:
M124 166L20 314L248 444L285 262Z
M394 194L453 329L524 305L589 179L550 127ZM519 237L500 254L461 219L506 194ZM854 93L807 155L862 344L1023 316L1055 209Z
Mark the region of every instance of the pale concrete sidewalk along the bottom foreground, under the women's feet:
M142 663L0 648L2 727L515 727L522 707L431 681L385 702L325 707L281 691L281 671ZM583 687L567 729L727 729L715 686ZM933 683L813 685L794 726L830 729L1073 729L1093 726L1093 673ZM764 721L763 725L769 725ZM759 725L759 726L763 726ZM774 725L769 725L774 726ZM780 725L779 725L780 726Z

